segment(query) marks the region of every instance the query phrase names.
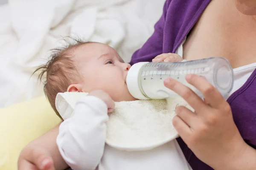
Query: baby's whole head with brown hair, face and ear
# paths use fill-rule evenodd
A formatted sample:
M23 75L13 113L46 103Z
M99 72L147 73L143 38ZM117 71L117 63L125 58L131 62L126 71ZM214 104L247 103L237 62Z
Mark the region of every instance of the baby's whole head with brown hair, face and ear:
M130 67L110 46L76 40L64 48L53 49L51 59L36 71L41 71L40 79L46 73L44 92L60 116L55 98L61 92L103 90L115 102L135 100L125 83Z

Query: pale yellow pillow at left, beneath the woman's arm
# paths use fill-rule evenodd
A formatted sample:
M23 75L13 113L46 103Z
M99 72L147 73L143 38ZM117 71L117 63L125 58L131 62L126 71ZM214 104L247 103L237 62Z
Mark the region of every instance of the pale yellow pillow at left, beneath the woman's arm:
M20 151L59 122L46 97L0 109L0 170L17 170Z

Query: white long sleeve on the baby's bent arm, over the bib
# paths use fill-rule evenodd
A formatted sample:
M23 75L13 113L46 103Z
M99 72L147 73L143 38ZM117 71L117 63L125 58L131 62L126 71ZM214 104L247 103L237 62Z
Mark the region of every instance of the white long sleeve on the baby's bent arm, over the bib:
M76 103L73 116L59 127L58 149L73 170L95 170L105 147L108 108L95 96Z

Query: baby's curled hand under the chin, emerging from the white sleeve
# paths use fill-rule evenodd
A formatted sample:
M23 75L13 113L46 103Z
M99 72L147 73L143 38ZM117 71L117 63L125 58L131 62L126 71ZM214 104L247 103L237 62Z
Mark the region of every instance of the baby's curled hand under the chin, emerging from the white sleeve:
M111 96L109 96L109 94L107 94L105 91L95 90L90 92L88 95L95 96L95 97L98 97L99 99L102 99L108 106L108 113L111 113L114 110L115 103L113 99L111 99Z

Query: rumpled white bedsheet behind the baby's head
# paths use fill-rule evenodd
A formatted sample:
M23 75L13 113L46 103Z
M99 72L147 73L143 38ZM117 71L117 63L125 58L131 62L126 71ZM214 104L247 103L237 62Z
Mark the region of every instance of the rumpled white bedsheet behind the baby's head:
M107 43L128 62L165 0L9 0L0 6L0 107L44 94L35 67L62 37Z

